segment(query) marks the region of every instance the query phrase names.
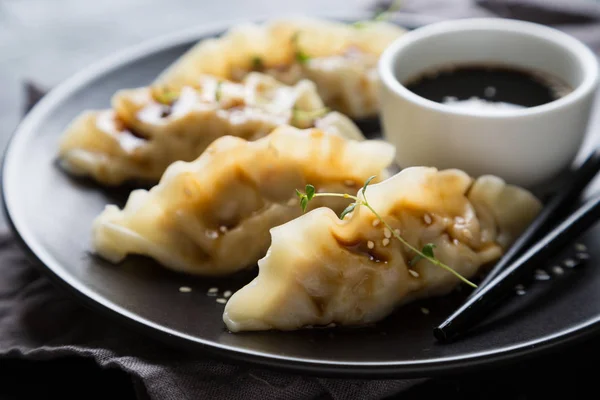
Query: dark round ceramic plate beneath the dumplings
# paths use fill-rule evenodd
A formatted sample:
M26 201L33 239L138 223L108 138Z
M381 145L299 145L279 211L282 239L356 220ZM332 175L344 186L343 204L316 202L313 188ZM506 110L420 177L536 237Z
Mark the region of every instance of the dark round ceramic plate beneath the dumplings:
M144 258L115 266L90 255L92 219L107 203L123 205L127 193L104 191L64 174L55 161L61 132L81 111L107 107L116 90L148 84L205 36L209 34L188 32L163 38L87 69L44 98L10 143L2 181L7 216L29 253L81 300L189 350L210 350L294 371L372 378L432 375L514 361L572 342L598 327L600 269L595 265L565 268L560 277L534 283L473 334L440 345L432 328L460 304L464 292L411 304L367 328L231 334L222 322L223 305L207 291L235 291L256 272L200 279L171 273ZM598 228L575 241L590 249L588 264L600 260ZM181 293L181 286L192 292Z

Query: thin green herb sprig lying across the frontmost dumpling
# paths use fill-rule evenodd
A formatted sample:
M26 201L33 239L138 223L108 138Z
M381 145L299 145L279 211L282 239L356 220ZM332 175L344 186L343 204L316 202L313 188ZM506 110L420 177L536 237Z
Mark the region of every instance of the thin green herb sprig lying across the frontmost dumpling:
M400 236L400 233L398 233L397 230L394 230L391 227L391 225L388 224L381 217L381 215L371 206L371 204L369 204L369 201L367 200L367 192L366 192L367 191L367 186L369 185L369 183L371 183L371 181L374 178L375 178L375 176L370 177L369 179L367 179L367 181L363 185L363 187L361 189L362 199L359 198L359 197L357 197L357 196L349 195L347 193L316 193L315 187L313 185L306 185L306 187L304 189L304 193L302 193L301 191L299 191L298 189L296 189L296 195L300 199L300 206L302 207L302 211L304 211L304 212L306 212L306 208L308 207L308 202L311 201L315 197L342 197L342 198L345 198L345 199L354 200L353 203L351 203L348 207L346 207L346 209L344 211L342 211L342 213L340 214L340 219L344 219L344 217L346 217L346 215L348 215L349 213L351 213L352 211L354 211L356 207L365 206L366 208L369 209L369 211L371 211L375 215L375 217L379 221L381 221L381 223L383 223L383 225L387 229L389 229L389 231L392 233L392 235L396 239L398 239L403 245L405 245L406 247L408 247L410 250L412 250L416 254L415 257L409 262L410 266L415 265L421 259L426 259L430 263L432 263L434 265L437 265L438 267L441 267L441 268L445 269L446 271L450 272L451 274L453 274L454 276L456 276L458 279L460 279L461 281L463 281L467 285L476 288L477 285L475 285L473 282L471 282L470 280L468 280L467 278L465 278L464 276L462 276L460 273L458 273L457 271L455 271L451 267L449 267L446 264L442 263L440 260L438 260L435 257L435 254L434 254L434 248L436 247L435 244L433 244L433 243L427 243L425 246L423 246L423 248L421 250L419 250L416 247L412 246L410 243L408 243L402 236Z

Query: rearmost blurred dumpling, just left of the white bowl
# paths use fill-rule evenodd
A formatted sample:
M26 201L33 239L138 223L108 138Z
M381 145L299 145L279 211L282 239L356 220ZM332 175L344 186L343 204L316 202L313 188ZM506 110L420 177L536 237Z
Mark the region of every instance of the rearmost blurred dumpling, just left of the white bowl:
M201 74L242 79L262 71L288 84L310 79L328 107L351 118L373 117L379 109L379 56L404 32L383 21L358 26L295 18L242 24L200 41L157 82L181 86Z

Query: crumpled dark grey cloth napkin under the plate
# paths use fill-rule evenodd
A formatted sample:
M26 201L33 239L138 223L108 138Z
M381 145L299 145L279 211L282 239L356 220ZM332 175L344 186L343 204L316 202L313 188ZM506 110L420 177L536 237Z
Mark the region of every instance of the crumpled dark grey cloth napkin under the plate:
M598 49L599 7L599 3L582 0L413 0L405 2L403 11L444 18L502 16L550 23ZM30 105L43 95L33 86L28 93ZM141 399L381 399L407 395L424 381L294 375L168 348L83 308L27 261L10 233L1 234L0 366L9 365L10 369L10 363L20 362L15 360L33 360L50 369L52 362L73 357L124 371ZM0 393L1 388L0 377ZM29 393L20 388L20 393ZM81 397L97 398L95 394L101 392L101 388L92 388Z

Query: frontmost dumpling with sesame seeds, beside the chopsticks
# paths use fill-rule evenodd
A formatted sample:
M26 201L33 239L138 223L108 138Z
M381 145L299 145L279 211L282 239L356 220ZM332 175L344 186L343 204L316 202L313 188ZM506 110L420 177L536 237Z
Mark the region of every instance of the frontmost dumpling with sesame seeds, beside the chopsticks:
M366 198L408 243L432 243L435 257L467 279L497 260L541 209L530 192L497 177L430 167L370 185ZM365 206L343 221L318 208L271 235L258 276L225 307L232 332L372 323L460 282L426 259L410 266L415 253Z

